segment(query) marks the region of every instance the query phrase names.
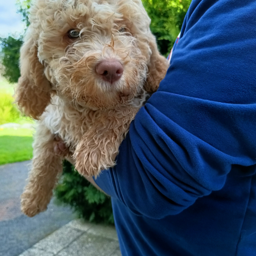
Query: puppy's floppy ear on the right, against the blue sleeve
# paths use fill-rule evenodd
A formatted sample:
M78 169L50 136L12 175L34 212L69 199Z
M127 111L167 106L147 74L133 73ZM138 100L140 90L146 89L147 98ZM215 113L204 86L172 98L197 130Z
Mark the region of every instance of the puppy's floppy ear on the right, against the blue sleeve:
M155 92L159 87L159 83L165 77L169 64L167 59L160 55L157 49L155 36L153 35L150 36L149 48L152 54L148 64L148 77L145 89L148 92Z

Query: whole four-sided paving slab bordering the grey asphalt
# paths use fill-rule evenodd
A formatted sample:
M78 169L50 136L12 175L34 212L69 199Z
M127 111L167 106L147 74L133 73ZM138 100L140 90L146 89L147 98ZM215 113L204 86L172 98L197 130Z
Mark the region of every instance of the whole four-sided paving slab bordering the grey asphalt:
M35 247L56 254L82 233L83 231L81 230L74 229L70 226L63 226L35 244Z

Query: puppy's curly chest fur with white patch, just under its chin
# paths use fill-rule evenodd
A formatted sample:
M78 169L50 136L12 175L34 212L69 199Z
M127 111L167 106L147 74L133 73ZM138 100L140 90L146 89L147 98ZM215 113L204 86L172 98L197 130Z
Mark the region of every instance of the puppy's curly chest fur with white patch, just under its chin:
M133 98L127 103L127 109L126 107L122 107L119 110L113 110L117 123L119 123L119 119L123 122L123 119L131 118L128 111L129 107L132 107L137 112L146 102L147 96L148 94L143 92L142 95ZM125 109L126 111L124 111ZM126 112L128 116L125 116ZM52 98L52 104L48 105L42 115L42 121L53 134L58 135L70 147L70 150L74 152L77 144L81 141L89 127L95 122L99 122L99 116L101 114L101 111L95 111L89 108L77 110L70 102L63 101L59 96L54 96Z

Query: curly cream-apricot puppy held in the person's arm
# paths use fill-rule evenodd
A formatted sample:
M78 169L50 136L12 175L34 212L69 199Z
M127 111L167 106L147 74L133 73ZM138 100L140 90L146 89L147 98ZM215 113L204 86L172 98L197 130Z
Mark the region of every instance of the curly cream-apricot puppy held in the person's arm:
M115 164L132 119L167 71L149 24L141 0L32 4L17 88L18 105L38 120L21 197L28 216L46 210L68 154L84 176Z

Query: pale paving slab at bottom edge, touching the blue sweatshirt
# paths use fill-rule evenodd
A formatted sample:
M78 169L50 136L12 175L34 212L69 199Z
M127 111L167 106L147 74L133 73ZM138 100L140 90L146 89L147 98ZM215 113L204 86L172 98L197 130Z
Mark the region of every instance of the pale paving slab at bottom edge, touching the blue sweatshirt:
M116 240L86 232L57 256L111 256L118 246Z

